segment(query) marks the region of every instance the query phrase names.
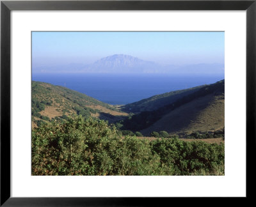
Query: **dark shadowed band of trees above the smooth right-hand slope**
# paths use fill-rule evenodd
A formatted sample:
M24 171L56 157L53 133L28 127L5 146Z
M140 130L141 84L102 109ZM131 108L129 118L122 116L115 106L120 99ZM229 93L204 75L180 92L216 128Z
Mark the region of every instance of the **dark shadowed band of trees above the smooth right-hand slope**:
M223 94L224 86L225 81L223 80L216 82L215 84L205 85L201 88L196 88L193 93L182 96L182 98L175 100L175 102L172 102L172 104L165 105L164 107L159 107L159 109L154 111L143 111L139 114L134 114L132 116L129 116L127 119L119 121L118 124L122 126L120 127L121 130L140 131L143 128L147 128L155 123L168 112L173 111L177 107L180 107L183 104L187 104L188 102L191 102L196 98L206 96L212 93L214 93L215 95Z

